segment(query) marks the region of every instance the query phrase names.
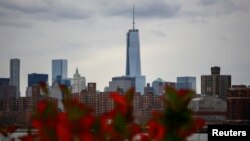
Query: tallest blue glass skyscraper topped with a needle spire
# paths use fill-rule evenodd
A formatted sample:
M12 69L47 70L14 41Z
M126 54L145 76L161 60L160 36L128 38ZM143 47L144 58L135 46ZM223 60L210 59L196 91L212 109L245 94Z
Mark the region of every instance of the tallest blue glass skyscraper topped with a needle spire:
M133 29L127 33L126 76L135 77L136 92L144 93L145 76L141 75L139 30L135 29L133 7Z

